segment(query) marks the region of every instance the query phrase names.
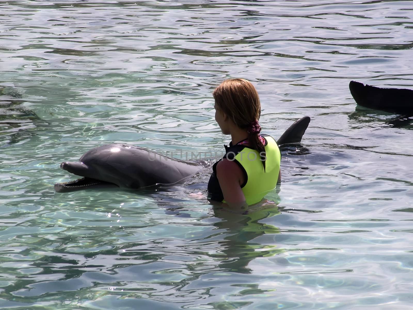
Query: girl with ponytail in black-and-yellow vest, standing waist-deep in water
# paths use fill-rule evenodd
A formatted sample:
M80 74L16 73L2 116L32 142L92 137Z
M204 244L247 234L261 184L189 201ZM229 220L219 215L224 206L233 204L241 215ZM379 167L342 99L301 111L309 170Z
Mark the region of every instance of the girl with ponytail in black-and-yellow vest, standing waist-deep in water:
M224 80L212 95L215 120L224 135L231 135L231 142L229 147L224 146L223 158L212 167L208 198L244 210L277 186L280 150L272 137L259 135L261 104L249 81Z

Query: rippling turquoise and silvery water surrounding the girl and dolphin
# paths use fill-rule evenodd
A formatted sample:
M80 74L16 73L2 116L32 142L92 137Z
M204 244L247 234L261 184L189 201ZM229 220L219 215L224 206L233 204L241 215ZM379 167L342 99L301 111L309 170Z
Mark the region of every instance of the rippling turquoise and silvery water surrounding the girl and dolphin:
M0 9L0 308L412 308L412 119L357 108L348 83L413 89L413 1ZM211 92L229 77L256 85L275 138L312 118L276 205L214 209L208 170L54 192L59 163L102 144L221 151Z

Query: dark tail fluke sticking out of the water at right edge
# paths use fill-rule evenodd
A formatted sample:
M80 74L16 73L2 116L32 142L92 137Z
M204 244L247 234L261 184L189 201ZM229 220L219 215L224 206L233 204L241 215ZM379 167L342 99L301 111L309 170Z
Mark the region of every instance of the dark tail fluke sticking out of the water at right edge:
M354 100L361 106L413 115L413 90L379 88L356 81L351 81L349 88Z

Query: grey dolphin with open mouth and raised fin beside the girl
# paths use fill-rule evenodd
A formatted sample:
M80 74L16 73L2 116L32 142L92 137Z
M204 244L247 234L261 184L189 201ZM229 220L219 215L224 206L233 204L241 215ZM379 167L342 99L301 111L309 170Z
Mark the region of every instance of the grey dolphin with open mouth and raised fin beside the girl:
M279 145L301 142L309 116L293 123L277 141ZM86 152L79 161L65 161L60 168L81 178L56 183L55 191L72 192L93 187L122 187L138 189L154 185L182 183L204 166L203 162L191 162L166 157L143 147L129 144L108 144Z

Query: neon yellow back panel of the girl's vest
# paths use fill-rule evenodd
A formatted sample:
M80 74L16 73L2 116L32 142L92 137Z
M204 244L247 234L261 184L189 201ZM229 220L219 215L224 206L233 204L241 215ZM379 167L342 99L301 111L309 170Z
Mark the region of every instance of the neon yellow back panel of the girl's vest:
M248 205L260 202L268 192L275 189L280 173L281 153L277 142L268 135L263 137L267 141L265 171L259 152L254 149L245 147L234 157L247 175L241 189Z

